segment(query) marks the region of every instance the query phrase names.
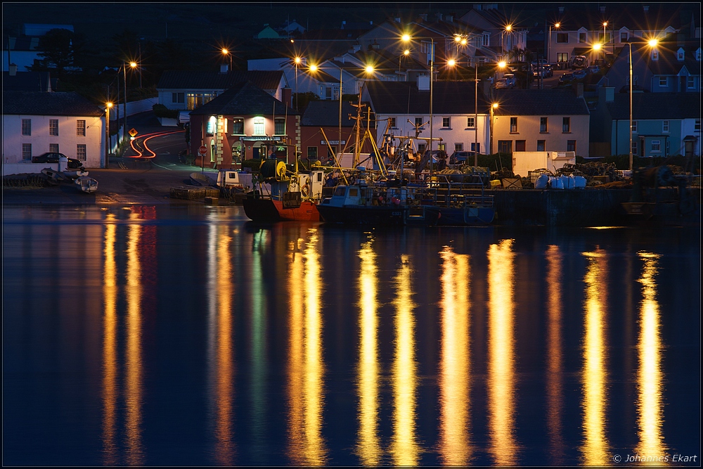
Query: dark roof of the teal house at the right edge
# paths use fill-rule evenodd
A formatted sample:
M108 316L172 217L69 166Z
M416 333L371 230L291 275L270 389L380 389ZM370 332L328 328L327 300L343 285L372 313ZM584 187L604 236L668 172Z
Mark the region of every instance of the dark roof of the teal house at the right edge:
M606 103L613 120L629 120L630 94L616 93ZM700 93L633 93L632 117L636 120L700 119Z

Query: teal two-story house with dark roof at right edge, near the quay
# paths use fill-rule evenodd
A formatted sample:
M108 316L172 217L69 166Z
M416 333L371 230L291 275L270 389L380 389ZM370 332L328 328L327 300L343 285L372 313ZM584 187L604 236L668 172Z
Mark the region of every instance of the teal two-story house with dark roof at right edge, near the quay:
M594 120L602 125L593 139L610 143L612 155L627 155L630 146L630 94L599 89ZM700 156L700 94L632 94L632 153L639 157ZM595 130L595 129L594 129Z

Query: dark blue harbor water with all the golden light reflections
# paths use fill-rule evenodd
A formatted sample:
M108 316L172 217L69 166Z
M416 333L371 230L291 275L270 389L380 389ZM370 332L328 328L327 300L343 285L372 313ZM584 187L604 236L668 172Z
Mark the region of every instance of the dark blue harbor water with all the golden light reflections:
M700 229L3 210L4 465L700 465Z

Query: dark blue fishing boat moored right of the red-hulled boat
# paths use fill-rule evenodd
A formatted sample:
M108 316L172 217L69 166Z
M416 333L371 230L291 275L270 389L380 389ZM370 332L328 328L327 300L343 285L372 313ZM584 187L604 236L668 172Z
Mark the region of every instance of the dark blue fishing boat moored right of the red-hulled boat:
M421 193L416 193L414 188L386 184L368 186L360 179L355 184L337 186L335 193L323 199L317 210L327 223L436 225L439 209L423 205L421 200Z

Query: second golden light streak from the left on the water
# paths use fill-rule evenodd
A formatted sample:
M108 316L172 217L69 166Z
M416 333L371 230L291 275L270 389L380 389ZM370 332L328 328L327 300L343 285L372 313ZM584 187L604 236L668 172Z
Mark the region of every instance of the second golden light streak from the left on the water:
M130 214L137 219L137 214ZM125 376L125 400L127 404L127 464L143 464L141 442L142 406L142 362L141 362L141 262L139 242L142 226L130 224L127 229L127 352Z

